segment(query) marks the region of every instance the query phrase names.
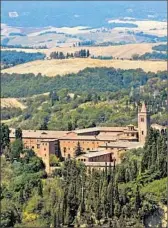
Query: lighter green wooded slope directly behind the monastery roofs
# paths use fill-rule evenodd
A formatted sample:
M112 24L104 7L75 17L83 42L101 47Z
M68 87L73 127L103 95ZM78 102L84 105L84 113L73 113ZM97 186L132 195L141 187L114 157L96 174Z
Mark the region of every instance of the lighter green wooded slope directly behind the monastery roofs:
M74 130L94 126L137 125L138 105L146 100L152 123L165 125L166 78L151 78L143 86L119 92L82 92L71 94L67 89L48 95L26 98L26 109L18 119L8 122L14 128L49 130ZM144 83L146 79L144 77ZM54 95L55 94L55 95ZM53 98L52 98L53 96ZM38 107L38 108L37 108ZM45 128L46 129L46 126Z

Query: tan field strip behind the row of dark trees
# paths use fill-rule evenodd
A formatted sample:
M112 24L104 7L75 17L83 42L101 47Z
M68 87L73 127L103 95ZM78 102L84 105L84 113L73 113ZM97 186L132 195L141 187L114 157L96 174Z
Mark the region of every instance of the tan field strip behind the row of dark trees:
M24 52L42 52L50 56L53 51L62 51L64 54L67 52L74 53L82 48L89 49L91 55L94 56L113 56L115 58L130 59L133 54L143 55L146 52L152 52L152 47L159 45L160 43L141 43L141 44L126 44L118 46L106 46L106 47L55 47L50 49L23 49L23 48L4 48L2 50L16 50ZM163 43L162 43L163 44Z

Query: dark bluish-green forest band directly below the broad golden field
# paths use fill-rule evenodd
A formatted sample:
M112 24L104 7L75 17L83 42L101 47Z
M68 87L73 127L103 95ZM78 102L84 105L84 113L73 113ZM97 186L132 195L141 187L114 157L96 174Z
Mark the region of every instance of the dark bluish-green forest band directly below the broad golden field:
M150 78L161 77L166 72L145 73L141 69L86 68L78 74L64 77L45 77L40 74L2 74L3 97L26 97L66 88L69 92L116 92L143 86ZM18 80L19 79L19 80ZM80 85L80 86L79 86ZM24 90L23 90L24 88Z

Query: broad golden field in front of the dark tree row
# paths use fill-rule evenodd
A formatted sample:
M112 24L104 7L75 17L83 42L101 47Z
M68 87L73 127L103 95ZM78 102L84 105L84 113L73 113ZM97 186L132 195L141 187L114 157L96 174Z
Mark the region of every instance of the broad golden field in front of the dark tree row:
M131 61L131 60L98 60L98 59L64 59L64 60L37 60L2 70L2 73L27 74L41 73L47 76L77 73L86 67L114 67L121 69L142 68L144 71L157 72L167 69L166 61Z

